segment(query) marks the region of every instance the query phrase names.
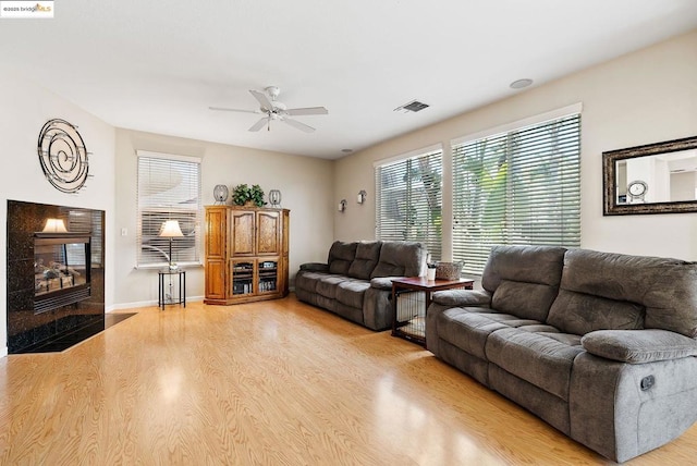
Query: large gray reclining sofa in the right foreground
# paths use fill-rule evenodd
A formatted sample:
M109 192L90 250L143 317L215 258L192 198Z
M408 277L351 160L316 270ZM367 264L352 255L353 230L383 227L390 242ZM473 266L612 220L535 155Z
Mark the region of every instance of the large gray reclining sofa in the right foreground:
M697 263L497 246L481 285L433 294L440 359L615 462L697 420Z

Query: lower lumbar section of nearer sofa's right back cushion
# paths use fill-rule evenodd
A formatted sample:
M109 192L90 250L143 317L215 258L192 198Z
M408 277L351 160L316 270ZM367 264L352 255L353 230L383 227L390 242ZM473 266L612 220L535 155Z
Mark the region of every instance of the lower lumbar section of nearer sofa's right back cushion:
M644 328L644 310L635 303L561 290L547 322L577 335L595 330L635 330Z

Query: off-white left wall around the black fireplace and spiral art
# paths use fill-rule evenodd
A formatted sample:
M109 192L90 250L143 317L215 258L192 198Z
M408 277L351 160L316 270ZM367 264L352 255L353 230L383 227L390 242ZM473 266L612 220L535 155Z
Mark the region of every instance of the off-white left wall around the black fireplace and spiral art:
M76 194L56 189L44 176L37 137L44 124L54 118L78 127L89 155L89 177ZM114 128L68 100L19 76L0 64L0 356L7 354L7 233L8 199L27 203L84 207L106 211L107 231L113 230ZM106 236L107 258L114 254L113 237ZM106 263L105 302L114 301L113 262Z

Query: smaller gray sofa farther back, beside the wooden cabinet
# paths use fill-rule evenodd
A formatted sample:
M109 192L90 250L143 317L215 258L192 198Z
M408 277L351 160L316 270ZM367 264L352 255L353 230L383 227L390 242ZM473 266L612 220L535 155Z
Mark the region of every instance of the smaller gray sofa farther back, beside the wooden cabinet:
M295 275L298 299L372 330L392 326L391 278L426 274L426 248L413 242L337 241L327 263L303 263Z

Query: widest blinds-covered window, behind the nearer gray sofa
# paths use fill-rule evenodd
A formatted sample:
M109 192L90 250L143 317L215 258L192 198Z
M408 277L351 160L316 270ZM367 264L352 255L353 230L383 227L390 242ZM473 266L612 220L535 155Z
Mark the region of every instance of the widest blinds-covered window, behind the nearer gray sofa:
M453 145L453 258L493 245L580 246L580 115Z

